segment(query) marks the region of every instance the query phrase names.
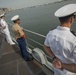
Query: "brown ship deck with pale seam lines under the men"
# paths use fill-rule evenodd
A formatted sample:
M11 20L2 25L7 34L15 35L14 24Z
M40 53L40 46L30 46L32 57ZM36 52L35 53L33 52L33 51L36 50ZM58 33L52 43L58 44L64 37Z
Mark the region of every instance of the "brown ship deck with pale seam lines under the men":
M53 75L53 72L36 60L26 62L18 45L10 46L0 34L0 75Z

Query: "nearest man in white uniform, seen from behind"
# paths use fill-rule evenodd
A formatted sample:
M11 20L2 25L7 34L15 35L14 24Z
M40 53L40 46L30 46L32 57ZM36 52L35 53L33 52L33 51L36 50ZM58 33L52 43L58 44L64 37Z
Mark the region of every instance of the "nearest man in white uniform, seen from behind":
M54 75L76 75L64 67L55 67L55 60L57 59L66 65L76 64L76 36L70 32L75 15L76 4L68 4L58 9L55 16L59 18L60 25L46 36L44 48L47 54L53 58ZM70 69L74 70L74 66Z

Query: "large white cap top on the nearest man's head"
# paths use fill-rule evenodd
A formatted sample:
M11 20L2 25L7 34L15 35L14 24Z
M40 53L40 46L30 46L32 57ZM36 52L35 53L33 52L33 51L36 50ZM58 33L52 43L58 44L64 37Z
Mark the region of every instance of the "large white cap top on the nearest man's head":
M76 4L68 4L55 12L56 17L66 17L76 12Z

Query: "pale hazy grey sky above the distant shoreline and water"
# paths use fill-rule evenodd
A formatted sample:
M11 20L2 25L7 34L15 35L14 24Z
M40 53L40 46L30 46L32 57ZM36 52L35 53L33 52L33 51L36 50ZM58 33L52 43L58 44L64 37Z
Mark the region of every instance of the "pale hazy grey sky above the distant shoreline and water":
M48 4L56 1L61 0L0 0L0 7L20 9L36 5Z

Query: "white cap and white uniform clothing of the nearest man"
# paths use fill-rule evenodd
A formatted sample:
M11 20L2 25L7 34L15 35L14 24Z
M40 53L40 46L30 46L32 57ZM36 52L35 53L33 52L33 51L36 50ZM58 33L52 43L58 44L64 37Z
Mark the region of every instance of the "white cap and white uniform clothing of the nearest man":
M72 14L76 15L76 4L65 5L58 9L54 15L61 18ZM70 32L68 27L58 26L50 31L44 44L51 48L52 52L62 63L76 64L76 37ZM54 68L54 75L76 75L76 73Z

